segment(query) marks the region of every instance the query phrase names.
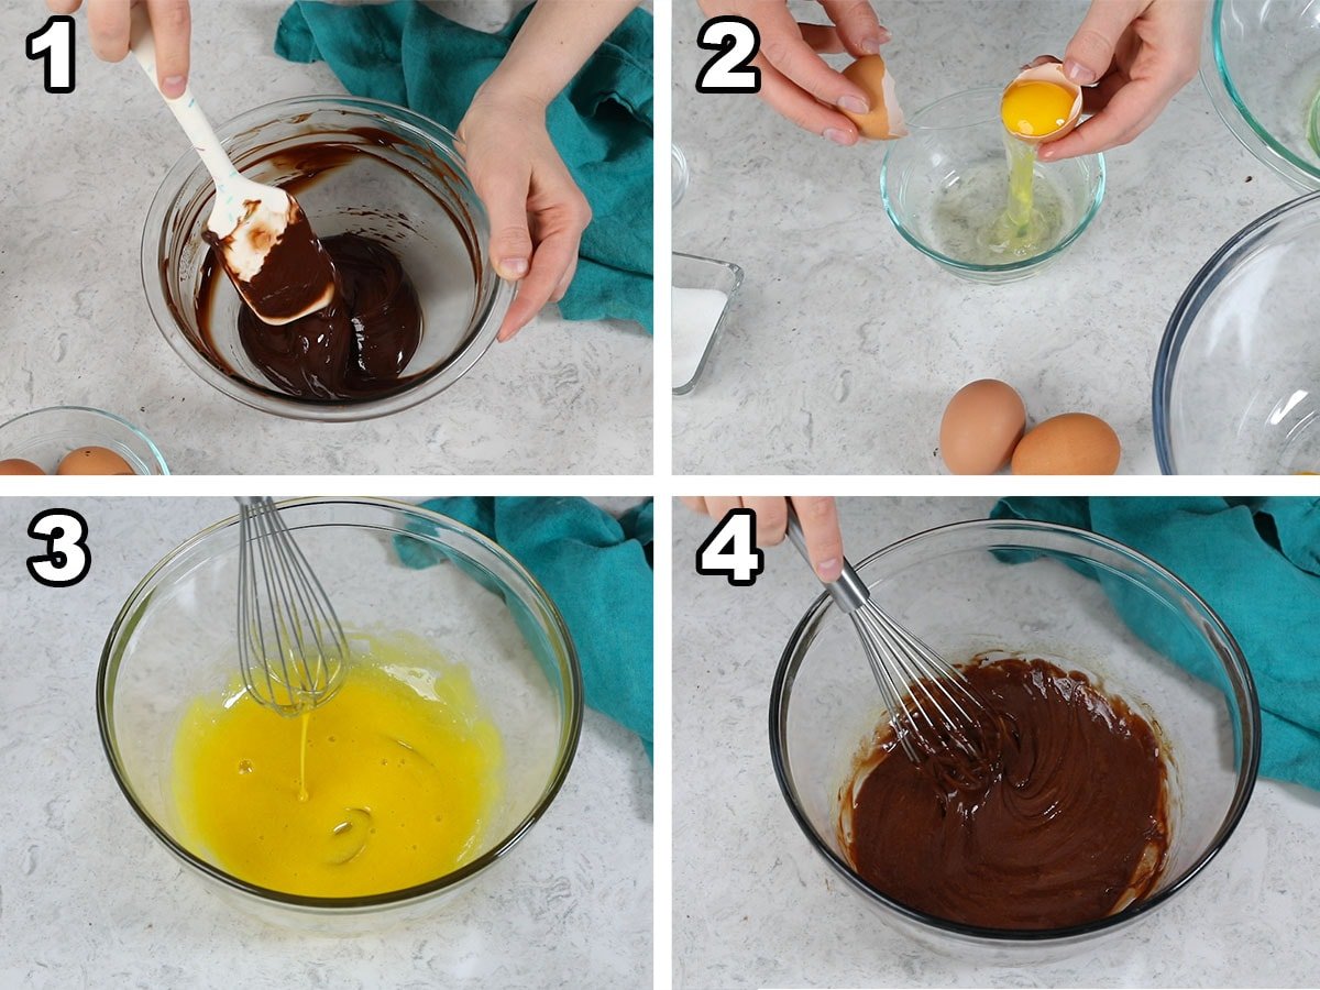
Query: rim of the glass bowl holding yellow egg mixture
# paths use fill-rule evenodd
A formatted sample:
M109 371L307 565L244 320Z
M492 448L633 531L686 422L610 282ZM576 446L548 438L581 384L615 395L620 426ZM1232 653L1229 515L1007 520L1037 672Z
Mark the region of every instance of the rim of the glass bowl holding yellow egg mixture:
M412 515L420 517L422 521L432 525L437 525L441 529L457 532L458 535L470 539L473 543L478 544L482 549L492 553L502 564L513 570L523 581L527 582L528 587L532 590L533 595L539 599L539 605L545 609L546 616L552 623L552 630L558 635L565 647L565 661L568 667L568 678L564 684L565 694L569 701L566 708L562 709L564 727L561 729L562 743L556 758L554 768L548 777L541 796L536 801L536 805L525 814L523 818L491 849L473 859L470 863L453 870L442 876L433 880L420 883L412 887L405 887L403 890L387 891L383 894L368 894L358 895L351 898L317 898L305 896L300 894L289 894L285 891L271 890L268 887L261 887L256 883L249 883L238 876L234 876L228 871L209 863L201 857L193 854L185 849L161 824L158 824L137 801L131 785L127 781L127 774L123 771L116 754L115 744L111 741L110 733L110 715L107 711L107 678L110 676L110 663L114 645L117 640L120 630L125 626L125 620L132 614L133 609L139 605L140 599L144 599L144 594L148 593L149 586L153 585L156 577L170 564L177 561L181 556L194 550L203 543L207 543L220 531L228 529L238 525L238 515L227 516L226 519L213 523L201 532L190 536L183 543L178 544L173 550L166 553L157 561L147 574L143 576L141 581L133 587L128 598L124 601L123 607L115 616L114 623L110 627L110 634L106 636L106 644L102 647L100 663L96 669L96 727L100 735L102 750L106 754L106 759L110 763L111 775L115 777L115 783L119 785L120 792L128 801L128 807L132 808L133 813L147 825L148 832L154 836L154 838L164 845L176 857L193 866L203 876L209 876L214 880L220 882L230 890L238 891L240 894L255 896L263 903L276 904L279 907L288 908L301 908L318 911L327 915L342 915L352 913L356 911L367 908L387 908L404 906L408 903L414 903L430 898L432 895L440 894L442 891L455 888L462 886L466 880L483 873L487 867L492 866L495 862L502 859L517 842L525 836L531 828L540 821L540 818L553 804L554 799L558 796L560 789L564 787L564 781L568 779L569 768L573 766L573 759L577 755L577 746L582 733L582 668L578 663L577 647L573 642L573 636L569 632L568 623L565 623L564 616L560 614L558 606L554 605L554 599L545 591L541 583L524 568L512 554L508 553L503 546L496 544L487 536L477 532L469 525L459 523L455 519L441 515L440 512L433 512L421 506L414 506L412 503L400 502L396 499L384 498L300 498L300 499L281 499L277 502L281 510L297 508L306 506L364 506L370 508L383 508L389 512ZM366 528L356 523L325 523L317 525L348 525L351 528ZM117 665L116 665L117 669Z

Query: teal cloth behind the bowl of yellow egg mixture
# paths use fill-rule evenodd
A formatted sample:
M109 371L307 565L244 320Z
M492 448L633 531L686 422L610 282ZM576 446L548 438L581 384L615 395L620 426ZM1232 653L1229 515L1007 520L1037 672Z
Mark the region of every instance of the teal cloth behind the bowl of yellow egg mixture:
M447 496L422 506L488 536L541 583L573 636L586 704L636 733L651 756L655 503L622 519L579 498ZM445 561L417 540L395 546L411 568ZM515 619L535 652L535 623L516 610Z

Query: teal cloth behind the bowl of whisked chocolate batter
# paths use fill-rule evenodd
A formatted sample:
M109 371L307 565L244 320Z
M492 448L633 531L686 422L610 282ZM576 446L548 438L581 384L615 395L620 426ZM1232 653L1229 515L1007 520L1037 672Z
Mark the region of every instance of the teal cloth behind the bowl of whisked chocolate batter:
M1224 620L1251 667L1261 697L1261 772L1320 789L1320 500L1011 498L990 515L1109 536L1185 581ZM1213 671L1187 661L1192 653L1179 648L1163 606L1125 594L1117 582L1104 586L1134 632L1224 686Z

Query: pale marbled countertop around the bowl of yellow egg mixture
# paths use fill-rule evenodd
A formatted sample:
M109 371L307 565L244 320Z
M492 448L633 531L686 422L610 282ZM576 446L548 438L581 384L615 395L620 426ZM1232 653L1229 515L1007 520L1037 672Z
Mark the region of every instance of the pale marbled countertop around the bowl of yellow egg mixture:
M545 817L499 869L422 919L306 936L213 894L119 793L94 694L129 591L232 503L55 504L91 528L92 572L65 590L38 585L24 565L40 549L28 520L51 502L0 503L0 986L649 985L651 766L635 735L591 710Z

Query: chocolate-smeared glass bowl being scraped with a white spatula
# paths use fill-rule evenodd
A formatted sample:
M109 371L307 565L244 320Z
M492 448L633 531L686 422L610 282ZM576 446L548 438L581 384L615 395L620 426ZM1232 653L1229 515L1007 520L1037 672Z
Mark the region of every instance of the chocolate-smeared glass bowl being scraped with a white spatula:
M491 268L490 222L454 149L454 135L404 107L354 96L280 100L234 117L216 133L248 178L271 185L294 180L293 193L317 235L356 232L388 244L417 286L422 337L404 370L411 380L395 392L360 401L309 401L277 389L239 343L239 296L228 280L218 276L216 290L202 297L210 248L201 234L215 187L189 150L165 176L147 213L141 265L156 323L202 380L264 412L366 420L438 395L486 352L513 290ZM300 149L325 143L345 149L342 164L318 170L300 158Z

